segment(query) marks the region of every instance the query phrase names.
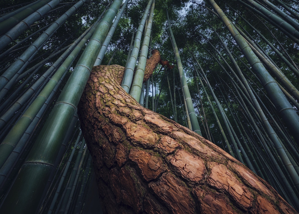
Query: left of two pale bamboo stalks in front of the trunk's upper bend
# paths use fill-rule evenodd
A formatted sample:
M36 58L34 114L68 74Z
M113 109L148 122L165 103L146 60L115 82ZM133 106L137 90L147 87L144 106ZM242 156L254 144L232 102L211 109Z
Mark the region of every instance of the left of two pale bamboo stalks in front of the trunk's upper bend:
M126 69L123 74L123 80L121 82L121 87L123 87L123 89L127 93L129 93L131 85L132 85L134 69L135 69L135 65L137 62L137 57L138 57L139 49L140 49L141 36L142 36L144 24L145 24L145 21L147 20L147 15L149 13L149 8L150 8L151 4L152 4L152 0L149 0L147 7L144 10L143 16L141 18L139 27L137 29L135 39L134 39L133 49L132 49L129 60L127 61ZM136 98L139 99L139 97L136 97Z

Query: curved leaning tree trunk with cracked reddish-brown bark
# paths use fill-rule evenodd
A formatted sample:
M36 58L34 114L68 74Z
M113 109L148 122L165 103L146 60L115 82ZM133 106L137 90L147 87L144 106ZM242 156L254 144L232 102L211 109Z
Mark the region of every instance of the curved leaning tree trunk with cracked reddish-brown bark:
M159 58L154 50L144 81ZM141 107L120 86L123 72L95 66L79 103L107 213L296 213L221 148Z

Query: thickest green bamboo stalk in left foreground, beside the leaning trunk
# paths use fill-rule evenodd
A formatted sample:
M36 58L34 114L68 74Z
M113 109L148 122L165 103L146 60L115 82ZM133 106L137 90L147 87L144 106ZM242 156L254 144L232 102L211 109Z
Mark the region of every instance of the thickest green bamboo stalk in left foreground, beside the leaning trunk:
M52 164L55 162L65 131L76 110L98 50L109 31L120 4L121 2L118 0L113 1L92 35L24 165L21 167L16 182L8 193L0 212L35 212L36 201L39 200L43 192L43 184L48 179ZM32 192L34 194L31 194ZM18 204L15 204L15 201L18 201Z

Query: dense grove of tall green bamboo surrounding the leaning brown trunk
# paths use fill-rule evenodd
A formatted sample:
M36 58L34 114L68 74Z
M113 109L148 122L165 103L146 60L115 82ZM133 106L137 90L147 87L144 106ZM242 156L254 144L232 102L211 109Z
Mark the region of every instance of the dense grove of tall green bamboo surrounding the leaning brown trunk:
M132 30L122 87L146 108L222 146L299 210L298 4L237 0L260 27L227 3L193 3L206 15L192 23L196 30L181 33L170 19L173 11L169 17L160 3L149 0ZM128 0L105 2L80 35L68 32L48 48L87 4L38 0L7 7L0 16L0 213L24 207L30 213L81 212L92 170L76 107L92 67L108 61L105 53L112 52L109 44L130 7ZM154 31L158 10L165 15L164 34ZM197 30L203 23L206 29ZM165 36L159 51L176 66L162 66L143 83L155 33ZM115 44L108 64L124 41Z

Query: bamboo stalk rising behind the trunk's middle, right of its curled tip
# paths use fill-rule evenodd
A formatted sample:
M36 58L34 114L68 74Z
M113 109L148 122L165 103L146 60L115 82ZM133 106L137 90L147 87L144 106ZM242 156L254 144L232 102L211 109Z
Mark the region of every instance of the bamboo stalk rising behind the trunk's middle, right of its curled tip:
M171 30L167 10L166 10L166 13L167 13L169 32L170 32L170 35L171 35L171 40L173 41L173 46L174 46L175 55L176 55L176 63L177 63L178 68L179 68L179 74L180 74L180 78L181 78L181 82L182 82L182 87L183 87L183 90L184 90L184 95L186 97L186 104L187 104L187 108L188 108L188 113L189 113L192 129L193 129L194 132L201 135L199 123L198 123L198 120L197 120L197 117L196 117L196 114L195 114L195 111L194 111L194 107L193 107L193 103L192 103L192 100L191 100L191 95L190 95L190 92L189 92L188 84L187 84L186 77L185 77L185 74L184 74L184 71L183 71L183 66L182 66L180 55L179 55L179 50L178 50L178 47L176 46L176 41L175 41L175 38L173 36L173 32Z

